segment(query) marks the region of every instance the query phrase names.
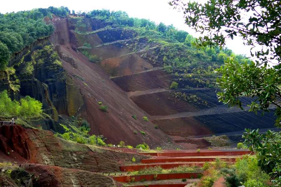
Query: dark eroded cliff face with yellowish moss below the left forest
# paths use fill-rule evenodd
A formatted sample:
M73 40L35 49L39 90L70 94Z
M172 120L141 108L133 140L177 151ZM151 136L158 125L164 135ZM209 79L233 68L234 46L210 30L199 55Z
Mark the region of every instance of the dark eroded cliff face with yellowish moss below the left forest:
M58 114L74 115L82 99L73 80L63 69L49 38L14 54L9 63L16 71L17 82L2 74L1 90L7 89L14 99L29 95L43 103L44 113L58 120ZM6 78L6 79L5 79ZM11 79L11 78L10 78ZM13 89L17 85L18 90Z

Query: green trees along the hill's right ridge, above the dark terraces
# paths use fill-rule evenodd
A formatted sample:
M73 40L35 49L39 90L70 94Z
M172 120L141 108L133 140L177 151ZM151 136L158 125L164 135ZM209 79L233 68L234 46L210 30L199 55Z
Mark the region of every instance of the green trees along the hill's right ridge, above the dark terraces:
M219 47L214 47L196 50L192 47L196 38L188 32L178 30L173 25L166 26L162 22L155 24L155 22L147 19L132 18L126 12L110 12L103 9L82 14L85 14L84 19L91 18L94 21L102 21L112 28L134 29L136 35L139 38L147 38L151 46L161 45L161 50L165 53L165 55L163 54L165 65L179 68L196 67L198 65L218 66L224 64L227 56L234 55L232 50L228 48L219 50ZM77 25L79 25L79 22L77 22ZM242 63L245 60L245 55L236 55L235 59Z

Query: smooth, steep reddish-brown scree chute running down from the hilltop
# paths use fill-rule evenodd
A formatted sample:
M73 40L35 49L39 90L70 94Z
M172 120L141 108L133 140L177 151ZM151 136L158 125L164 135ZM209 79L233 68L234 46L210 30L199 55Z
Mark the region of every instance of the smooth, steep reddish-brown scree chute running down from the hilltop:
M71 32L69 31L67 19L56 18L52 22L57 26L56 31L62 33L60 34L62 38L51 37L54 48L60 56L64 70L69 75L72 75L75 84L79 86L81 97L83 98L84 105L79 108L76 115L86 119L91 124L90 134L103 134L107 138L107 143L118 144L120 141L124 141L125 144L132 146L145 141L149 146L155 147L166 140L163 136L164 133L159 129L155 129L152 122L142 120L142 117L147 116L147 114L131 102L126 92L112 82L109 76L96 64L91 63L81 53L77 53L78 46L72 43L63 43L64 45L61 45L62 42L60 41L75 40L75 38L66 38L74 37L74 35L63 34ZM109 54L112 51L108 48L104 49L104 52ZM74 62L70 59L74 59ZM136 66L139 67L140 65ZM121 69L125 70L124 67ZM129 71L130 68L127 70ZM143 70L141 68L137 71ZM77 79L75 76L82 77L82 79ZM98 102L108 106L107 113L99 109ZM132 115L136 115L138 120L135 120ZM134 131L143 131L146 136L140 133L134 134Z

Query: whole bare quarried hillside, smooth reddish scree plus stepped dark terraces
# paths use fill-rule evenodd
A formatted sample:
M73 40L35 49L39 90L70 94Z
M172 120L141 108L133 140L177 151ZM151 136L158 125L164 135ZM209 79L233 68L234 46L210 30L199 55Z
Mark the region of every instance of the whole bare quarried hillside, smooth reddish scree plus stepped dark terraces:
M179 74L166 71L165 47L138 36L134 30L104 27L86 18L84 21L88 26L77 26L77 19L72 16L67 20L53 20L56 31L61 33L56 33L60 37L53 37L52 43L68 74L83 78L74 81L84 97L79 113L92 122L90 133L103 134L112 144L123 140L135 146L141 139L156 146L166 140L165 134L184 140L199 135L235 133L245 128L273 127L272 113L260 117L260 113L246 112L247 108L228 109L218 102L218 90L206 88L200 79L193 79L184 70L179 70ZM99 60L91 63L81 53L96 55ZM179 83L179 88L170 89L173 81ZM104 101L111 111L100 113L97 101ZM245 98L244 102L250 100ZM137 120L131 117L134 114ZM144 116L148 122L142 120ZM149 136L133 134L139 130ZM185 142L180 145L190 147Z

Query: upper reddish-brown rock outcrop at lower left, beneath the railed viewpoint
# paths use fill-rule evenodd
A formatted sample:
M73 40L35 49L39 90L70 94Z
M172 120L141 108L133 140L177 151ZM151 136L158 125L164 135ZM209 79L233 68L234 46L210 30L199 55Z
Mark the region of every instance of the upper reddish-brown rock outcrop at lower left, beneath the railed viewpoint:
M126 152L126 149L89 148L56 138L51 131L24 129L20 125L0 126L0 149L0 161L55 165L90 172L117 172L119 166L133 157L137 161L146 157Z

